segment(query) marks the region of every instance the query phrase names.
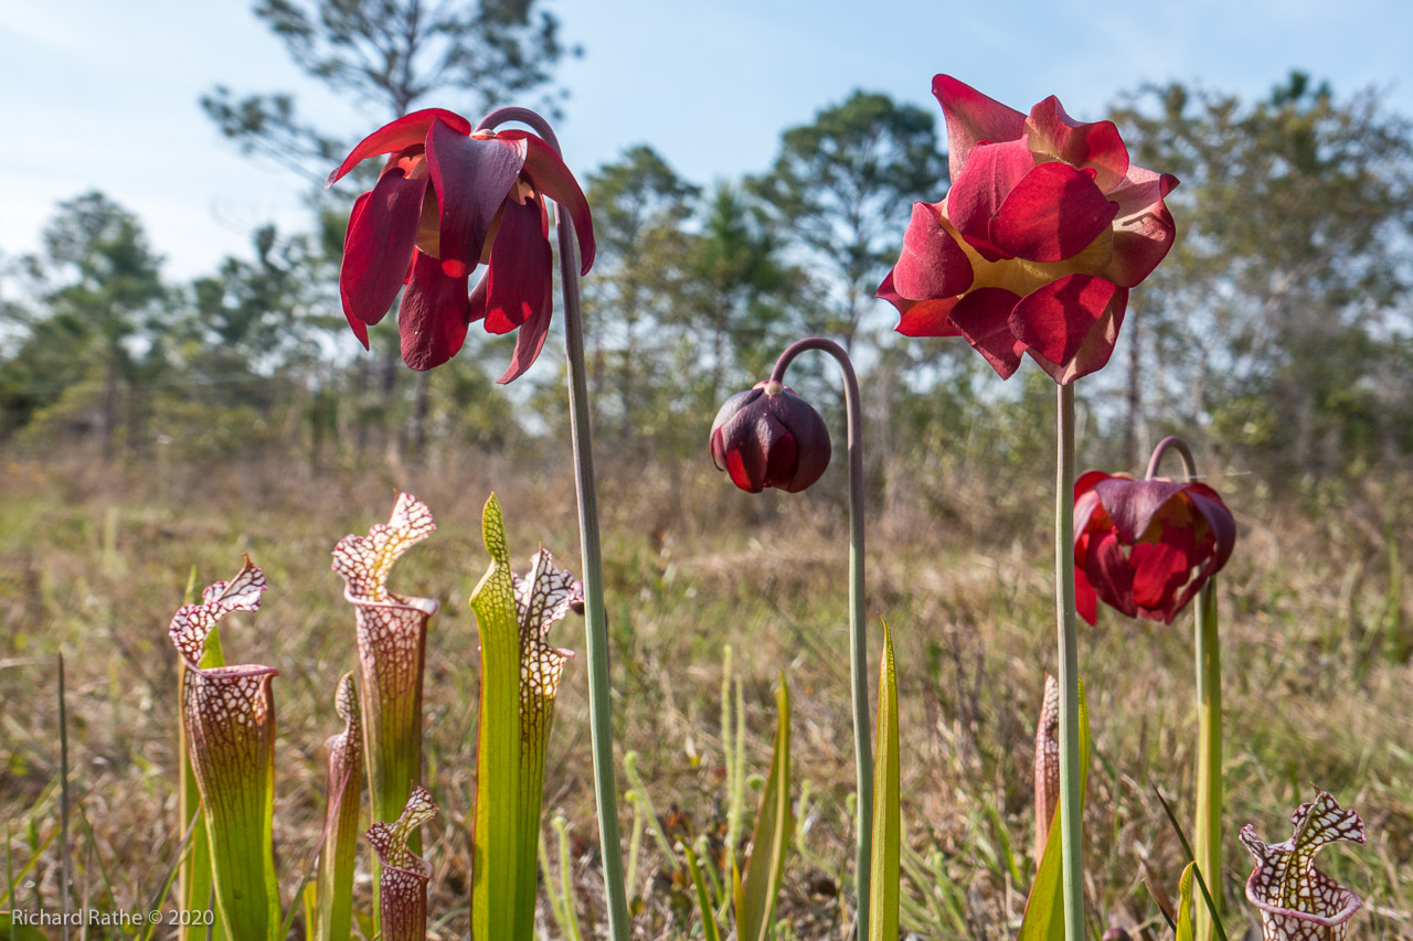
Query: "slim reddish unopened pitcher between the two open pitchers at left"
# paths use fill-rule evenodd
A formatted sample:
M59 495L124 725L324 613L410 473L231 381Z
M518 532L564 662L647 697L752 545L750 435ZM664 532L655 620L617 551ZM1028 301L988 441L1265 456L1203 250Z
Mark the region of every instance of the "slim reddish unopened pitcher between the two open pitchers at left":
M353 674L339 681L333 706L343 730L329 736L329 798L324 812L324 849L315 883L315 941L348 941L353 925L353 865L357 860L357 811L363 795L363 742Z

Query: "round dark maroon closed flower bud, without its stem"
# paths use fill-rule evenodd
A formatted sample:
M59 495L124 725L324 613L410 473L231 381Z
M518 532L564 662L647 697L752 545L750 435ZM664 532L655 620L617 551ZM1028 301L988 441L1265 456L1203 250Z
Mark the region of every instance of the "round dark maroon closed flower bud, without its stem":
M814 406L777 381L726 400L711 427L711 458L742 490L798 493L829 466L829 430Z

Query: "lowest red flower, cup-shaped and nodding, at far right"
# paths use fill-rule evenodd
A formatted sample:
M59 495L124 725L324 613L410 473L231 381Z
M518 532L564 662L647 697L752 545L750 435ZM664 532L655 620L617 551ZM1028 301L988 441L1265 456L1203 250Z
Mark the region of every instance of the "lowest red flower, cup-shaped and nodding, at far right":
M1129 617L1173 623L1235 544L1236 521L1205 483L1102 470L1074 482L1075 606L1091 625L1099 599Z

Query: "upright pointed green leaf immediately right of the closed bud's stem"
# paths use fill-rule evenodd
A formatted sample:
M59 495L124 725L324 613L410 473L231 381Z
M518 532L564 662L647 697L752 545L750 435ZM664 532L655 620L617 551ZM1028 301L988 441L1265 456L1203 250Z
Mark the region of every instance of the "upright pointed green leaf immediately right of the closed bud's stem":
M873 756L873 842L869 852L869 941L897 940L903 793L897 740L897 665L893 634L883 622L879 663L877 754Z

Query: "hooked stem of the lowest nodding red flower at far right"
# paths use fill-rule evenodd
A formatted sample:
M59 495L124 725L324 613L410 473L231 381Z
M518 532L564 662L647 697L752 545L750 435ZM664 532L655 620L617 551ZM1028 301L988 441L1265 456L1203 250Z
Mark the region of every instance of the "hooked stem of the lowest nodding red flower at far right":
M1167 451L1176 451L1183 462L1183 473L1197 478L1197 462L1187 442L1167 437L1153 448L1147 479L1157 476ZM1222 650L1217 630L1217 585L1208 579L1197 593L1194 613L1194 651L1197 673L1197 801L1193 855L1202 873L1212 907L1222 910ZM1212 917L1205 906L1197 906L1194 934L1198 941L1212 935Z

